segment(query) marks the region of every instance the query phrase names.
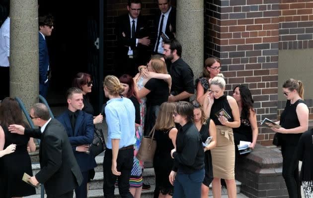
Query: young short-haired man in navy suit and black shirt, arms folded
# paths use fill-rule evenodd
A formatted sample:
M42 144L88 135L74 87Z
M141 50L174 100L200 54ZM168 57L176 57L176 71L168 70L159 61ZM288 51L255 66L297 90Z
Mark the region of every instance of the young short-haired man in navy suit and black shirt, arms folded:
M87 197L87 181L89 171L97 166L94 156L87 154L89 144L93 141L94 126L93 117L84 111L82 91L76 87L70 88L66 94L68 110L64 111L57 119L65 127L73 148L74 155L80 167L83 181L75 189L76 198Z

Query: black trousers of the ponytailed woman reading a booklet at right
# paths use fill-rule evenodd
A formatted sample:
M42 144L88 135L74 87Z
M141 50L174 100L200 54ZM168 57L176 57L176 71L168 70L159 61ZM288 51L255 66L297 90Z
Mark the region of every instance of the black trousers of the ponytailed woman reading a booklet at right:
M296 160L296 150L296 146L282 146L283 178L285 179L289 198L301 198L299 161Z

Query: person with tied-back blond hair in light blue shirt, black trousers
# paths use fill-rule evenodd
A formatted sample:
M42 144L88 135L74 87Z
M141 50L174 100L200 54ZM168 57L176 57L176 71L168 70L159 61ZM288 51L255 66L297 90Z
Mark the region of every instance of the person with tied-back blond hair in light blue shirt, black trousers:
M108 138L103 159L103 194L105 198L114 197L118 178L121 197L133 197L129 190L129 179L136 143L135 107L130 99L120 96L124 88L117 77L106 76L103 87L105 97L109 98L104 108Z

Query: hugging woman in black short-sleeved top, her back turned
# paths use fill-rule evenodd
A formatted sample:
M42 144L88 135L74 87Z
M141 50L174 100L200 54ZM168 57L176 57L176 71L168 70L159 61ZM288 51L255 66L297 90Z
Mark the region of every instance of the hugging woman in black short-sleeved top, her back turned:
M148 71L167 75L165 62L158 59L150 60L148 63ZM134 78L134 83L137 83L136 78ZM164 80L151 78L141 90L138 90L137 86L135 86L135 91L139 99L147 97L147 125L145 126L145 134L147 134L156 123L161 103L168 99L169 85Z

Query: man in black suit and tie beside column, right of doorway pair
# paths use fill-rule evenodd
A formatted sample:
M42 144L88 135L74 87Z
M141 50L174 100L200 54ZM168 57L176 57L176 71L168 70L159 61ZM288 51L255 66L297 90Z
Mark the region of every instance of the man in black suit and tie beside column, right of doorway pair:
M156 41L154 43L154 53L163 54L163 32L169 40L175 38L176 33L176 9L170 5L170 0L157 0L159 11L155 17Z

